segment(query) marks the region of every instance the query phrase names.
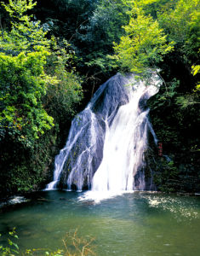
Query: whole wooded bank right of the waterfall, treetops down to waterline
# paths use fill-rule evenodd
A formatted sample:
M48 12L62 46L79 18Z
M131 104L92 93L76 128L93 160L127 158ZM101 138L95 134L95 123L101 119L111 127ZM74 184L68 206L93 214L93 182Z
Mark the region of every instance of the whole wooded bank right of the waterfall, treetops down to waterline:
M158 63L166 88L161 87L149 101L151 122L163 142L163 154L173 161L173 165L169 165L164 159L157 160L160 172L155 181L158 189L168 192L197 191L199 3L196 0L145 2L140 1L146 15L152 14L157 20L167 42L174 41L174 50Z

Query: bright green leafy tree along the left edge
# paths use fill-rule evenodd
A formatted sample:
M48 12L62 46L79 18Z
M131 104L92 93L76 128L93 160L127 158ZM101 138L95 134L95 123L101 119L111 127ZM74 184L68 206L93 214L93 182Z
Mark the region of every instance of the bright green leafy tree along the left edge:
M13 21L9 32L0 32L1 134L9 132L26 146L54 125L43 108L42 97L49 82L58 83L44 73L50 55L46 32L25 15L35 4L31 0L3 3Z

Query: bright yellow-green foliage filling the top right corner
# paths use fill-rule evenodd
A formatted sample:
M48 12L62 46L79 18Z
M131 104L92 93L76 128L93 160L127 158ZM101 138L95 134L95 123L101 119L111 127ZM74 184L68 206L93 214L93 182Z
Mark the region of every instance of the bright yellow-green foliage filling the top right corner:
M179 0L157 12L160 26L174 41L176 51L190 68L198 64L199 53L199 1Z

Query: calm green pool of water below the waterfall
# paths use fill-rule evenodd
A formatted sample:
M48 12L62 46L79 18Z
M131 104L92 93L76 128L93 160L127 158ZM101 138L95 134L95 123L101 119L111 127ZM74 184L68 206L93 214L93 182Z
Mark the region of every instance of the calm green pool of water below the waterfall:
M200 255L200 198L135 192L94 204L80 195L46 191L7 207L0 233L16 227L22 250L62 247L66 232L78 229L95 238L100 256Z

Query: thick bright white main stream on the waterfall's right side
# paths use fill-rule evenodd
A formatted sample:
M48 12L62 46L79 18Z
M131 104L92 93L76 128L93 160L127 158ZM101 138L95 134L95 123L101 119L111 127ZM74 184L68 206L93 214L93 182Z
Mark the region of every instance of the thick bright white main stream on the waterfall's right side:
M111 126L106 125L103 159L94 173L92 190L132 190L134 175L143 166L147 146L148 110L141 111L139 101L150 88L140 84L129 90L129 103L120 107ZM139 189L145 189L140 183Z

